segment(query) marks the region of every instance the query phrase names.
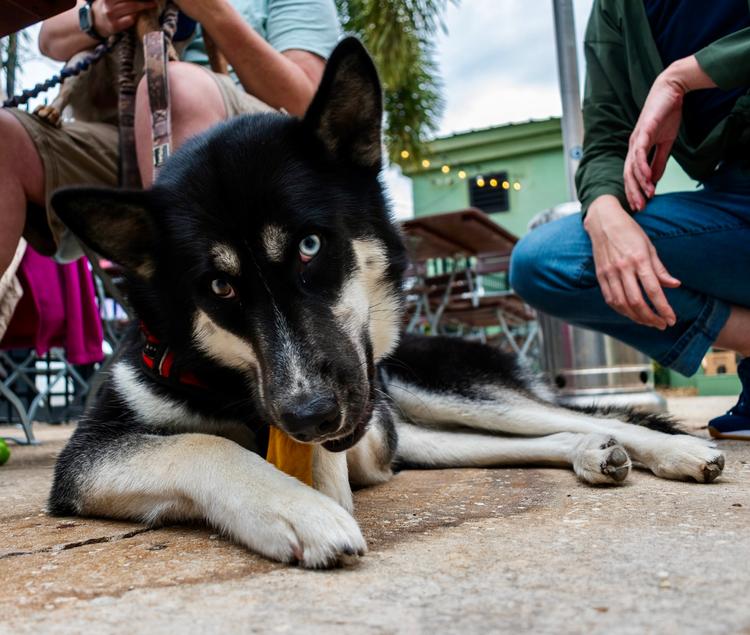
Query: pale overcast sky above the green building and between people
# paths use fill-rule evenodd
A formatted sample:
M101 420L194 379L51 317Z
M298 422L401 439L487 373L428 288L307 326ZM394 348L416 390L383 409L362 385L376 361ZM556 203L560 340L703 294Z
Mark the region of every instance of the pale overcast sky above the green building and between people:
M579 64L580 42L593 0L573 0ZM447 33L438 38L445 113L439 134L463 132L562 113L557 84L552 0L463 0L446 12ZM58 68L27 65L24 86ZM411 215L411 188L397 169L386 175L396 211Z

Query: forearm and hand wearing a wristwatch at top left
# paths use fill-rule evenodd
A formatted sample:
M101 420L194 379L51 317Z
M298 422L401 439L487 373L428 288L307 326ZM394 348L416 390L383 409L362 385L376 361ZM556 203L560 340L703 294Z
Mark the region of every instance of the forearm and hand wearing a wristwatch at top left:
M83 0L78 0L75 8L44 21L39 31L39 50L43 55L65 62L99 44L81 31L78 9L83 4ZM141 11L155 6L151 0L94 0L91 6L94 28L102 37L109 37L133 26Z

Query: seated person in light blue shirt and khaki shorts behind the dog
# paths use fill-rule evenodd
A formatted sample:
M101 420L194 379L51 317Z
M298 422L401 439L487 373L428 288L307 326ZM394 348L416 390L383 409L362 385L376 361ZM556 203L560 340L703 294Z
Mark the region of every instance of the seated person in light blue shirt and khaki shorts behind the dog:
M240 85L208 70L199 36L171 62L169 91L173 145L223 119L245 112L284 109L302 114L339 39L333 0L179 0L202 23L232 65ZM108 36L130 28L148 0L78 0L74 9L46 20L39 48L68 60ZM84 17L85 16L85 17ZM113 78L114 79L114 78ZM113 90L116 87L113 85ZM136 147L141 180L151 183L151 120L145 81L136 96ZM116 122L64 122L54 128L15 109L0 110L0 274L23 234L37 251L69 260L75 239L49 199L68 185L117 185Z

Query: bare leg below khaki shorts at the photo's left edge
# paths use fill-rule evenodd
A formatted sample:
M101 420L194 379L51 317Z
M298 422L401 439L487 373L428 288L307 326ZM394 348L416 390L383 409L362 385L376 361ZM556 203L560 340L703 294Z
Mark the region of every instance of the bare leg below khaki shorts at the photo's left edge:
M18 120L0 111L0 275L8 268L26 222L26 204L44 204L44 167Z

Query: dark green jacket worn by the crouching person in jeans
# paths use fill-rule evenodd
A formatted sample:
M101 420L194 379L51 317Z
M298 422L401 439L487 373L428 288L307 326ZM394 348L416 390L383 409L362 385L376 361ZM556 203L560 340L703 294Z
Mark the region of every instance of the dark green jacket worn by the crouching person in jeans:
M748 2L750 6L750 1ZM664 70L641 0L595 0L584 38L586 88L583 98L583 158L576 173L584 212L602 194L628 209L623 166L628 139L648 91ZM695 54L719 88L750 88L750 28L721 38ZM750 95L737 100L697 147L684 128L672 156L696 181L706 179L725 158L750 156Z

